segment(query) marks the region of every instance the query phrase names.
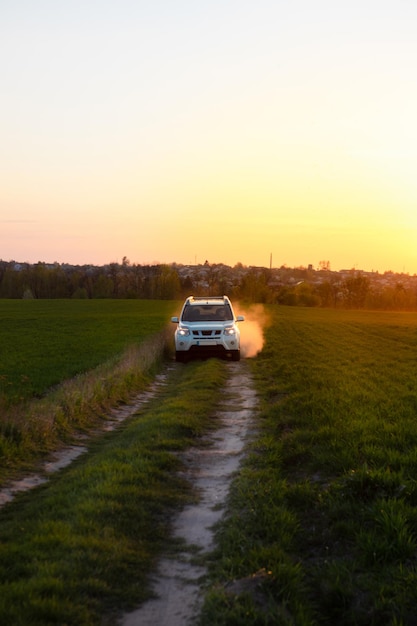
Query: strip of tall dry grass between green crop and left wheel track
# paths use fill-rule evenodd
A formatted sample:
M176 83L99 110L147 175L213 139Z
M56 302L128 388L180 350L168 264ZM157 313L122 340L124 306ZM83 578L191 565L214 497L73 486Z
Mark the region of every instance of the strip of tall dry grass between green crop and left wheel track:
M167 341L168 330L65 381L44 398L9 408L0 422L0 483L71 441L76 430L97 424L110 407L149 384Z

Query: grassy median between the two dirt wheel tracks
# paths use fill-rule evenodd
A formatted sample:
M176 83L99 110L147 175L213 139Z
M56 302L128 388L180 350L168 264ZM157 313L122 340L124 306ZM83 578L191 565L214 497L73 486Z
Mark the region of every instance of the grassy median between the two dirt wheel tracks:
M1 624L114 623L149 597L169 512L192 497L175 452L210 427L225 377L216 361L176 368L148 409L0 511Z

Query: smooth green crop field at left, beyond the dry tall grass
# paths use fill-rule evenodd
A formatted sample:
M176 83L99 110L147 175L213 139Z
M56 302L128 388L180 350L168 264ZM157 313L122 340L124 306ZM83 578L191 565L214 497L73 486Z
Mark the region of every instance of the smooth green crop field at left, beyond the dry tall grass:
M0 405L42 396L161 331L172 302L1 300Z

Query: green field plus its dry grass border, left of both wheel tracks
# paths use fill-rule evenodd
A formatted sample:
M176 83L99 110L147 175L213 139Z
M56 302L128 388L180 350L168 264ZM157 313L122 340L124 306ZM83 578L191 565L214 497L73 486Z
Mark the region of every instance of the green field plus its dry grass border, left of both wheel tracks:
M0 484L149 382L174 307L0 300Z

